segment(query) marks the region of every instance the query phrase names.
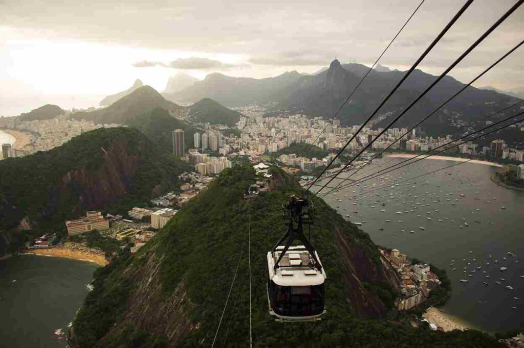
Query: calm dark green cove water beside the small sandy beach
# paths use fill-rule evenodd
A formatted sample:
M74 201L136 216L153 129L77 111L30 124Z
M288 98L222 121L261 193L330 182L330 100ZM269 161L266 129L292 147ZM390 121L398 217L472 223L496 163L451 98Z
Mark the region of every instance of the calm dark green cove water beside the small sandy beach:
M96 267L32 255L0 260L0 346L65 347L68 324L89 292Z

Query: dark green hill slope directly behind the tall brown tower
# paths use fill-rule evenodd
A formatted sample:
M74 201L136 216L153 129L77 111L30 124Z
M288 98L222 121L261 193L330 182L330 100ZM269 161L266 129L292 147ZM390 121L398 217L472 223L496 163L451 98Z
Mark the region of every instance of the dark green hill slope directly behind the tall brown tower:
M172 117L168 111L162 108L155 108L149 112L136 115L127 120L126 124L140 130L159 148L168 153L173 152L173 130L181 129L184 131L186 149L193 147L193 135L197 132L193 126Z

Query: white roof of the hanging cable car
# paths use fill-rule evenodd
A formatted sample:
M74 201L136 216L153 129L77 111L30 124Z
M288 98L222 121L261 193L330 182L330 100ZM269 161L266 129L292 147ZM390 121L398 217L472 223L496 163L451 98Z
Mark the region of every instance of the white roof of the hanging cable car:
M275 270L275 262L278 260L283 246L277 247L277 251L267 253L269 279L280 286L308 286L323 284L326 279L324 268L318 270L311 268L310 253L304 246L289 247L285 256L280 260L280 267ZM319 256L316 254L318 260ZM319 261L320 262L320 261Z

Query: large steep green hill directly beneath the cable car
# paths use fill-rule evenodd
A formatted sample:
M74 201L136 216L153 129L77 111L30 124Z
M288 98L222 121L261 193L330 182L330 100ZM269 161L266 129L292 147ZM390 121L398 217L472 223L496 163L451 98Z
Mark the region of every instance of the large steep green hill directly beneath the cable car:
M322 201L315 203L311 239L328 275L328 312L314 323L270 318L266 253L283 233L281 204L300 190L279 169L271 173L272 190L246 202L253 168L225 169L145 247L97 270L73 322L73 345L211 346L236 274L215 346L248 346L250 231L255 347L499 346L478 331L433 332L386 320L397 294L395 274L369 236Z

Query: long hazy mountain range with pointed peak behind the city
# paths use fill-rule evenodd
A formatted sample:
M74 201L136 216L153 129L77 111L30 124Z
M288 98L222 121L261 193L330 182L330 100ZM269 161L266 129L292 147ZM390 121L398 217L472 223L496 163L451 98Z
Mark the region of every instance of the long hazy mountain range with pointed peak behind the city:
M229 107L270 103L271 112L296 112L330 118L368 69L362 64L341 64L334 60L328 69L321 69L314 75L290 72L273 78L254 79L214 73L191 87L166 97L183 102L211 97ZM352 100L339 113L341 124L362 123L405 73L391 71L383 66L373 69ZM436 76L419 69L413 71L380 109L374 119L375 127L387 125L392 117L409 105L435 78ZM416 123L463 86L463 83L451 76L444 77L396 126L408 127ZM514 97L496 91L468 87L424 122L419 131L428 135L447 134L456 125L474 121L487 113L502 109L512 101L515 101Z

